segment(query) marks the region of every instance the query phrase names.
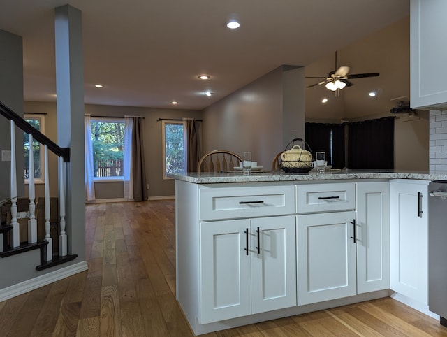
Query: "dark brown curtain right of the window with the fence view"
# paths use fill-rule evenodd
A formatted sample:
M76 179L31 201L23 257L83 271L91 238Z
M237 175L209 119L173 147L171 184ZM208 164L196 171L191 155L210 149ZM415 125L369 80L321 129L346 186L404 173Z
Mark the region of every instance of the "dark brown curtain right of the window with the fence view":
M140 117L133 117L132 160L133 200L147 201L145 151L142 145Z

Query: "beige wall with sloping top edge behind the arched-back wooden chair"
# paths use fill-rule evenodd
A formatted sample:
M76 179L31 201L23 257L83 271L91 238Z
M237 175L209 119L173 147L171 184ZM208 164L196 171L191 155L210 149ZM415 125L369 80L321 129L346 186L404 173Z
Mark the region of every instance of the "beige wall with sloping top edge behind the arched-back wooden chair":
M293 137L304 137L304 71L279 67L206 108L203 148L251 151L258 165L272 160Z

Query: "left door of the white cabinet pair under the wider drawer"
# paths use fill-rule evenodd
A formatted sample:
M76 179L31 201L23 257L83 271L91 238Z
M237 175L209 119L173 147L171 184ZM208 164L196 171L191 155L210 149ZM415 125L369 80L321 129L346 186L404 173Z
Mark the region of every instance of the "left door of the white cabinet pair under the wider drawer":
M249 227L250 220L200 222L200 324L250 315Z

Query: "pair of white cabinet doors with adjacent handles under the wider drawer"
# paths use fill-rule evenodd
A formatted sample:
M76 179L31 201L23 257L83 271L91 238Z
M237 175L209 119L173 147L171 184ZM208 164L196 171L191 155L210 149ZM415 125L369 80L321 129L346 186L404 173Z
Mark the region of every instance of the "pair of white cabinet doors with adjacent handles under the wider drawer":
M200 324L296 306L295 217L200 222Z

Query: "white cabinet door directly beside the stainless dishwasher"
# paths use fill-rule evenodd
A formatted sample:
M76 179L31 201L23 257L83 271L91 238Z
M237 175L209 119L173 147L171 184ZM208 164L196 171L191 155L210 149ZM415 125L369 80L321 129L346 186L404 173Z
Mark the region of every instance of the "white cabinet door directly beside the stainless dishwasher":
M390 182L390 288L428 302L427 183Z

